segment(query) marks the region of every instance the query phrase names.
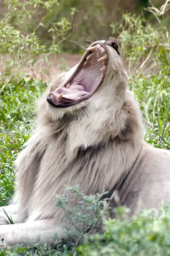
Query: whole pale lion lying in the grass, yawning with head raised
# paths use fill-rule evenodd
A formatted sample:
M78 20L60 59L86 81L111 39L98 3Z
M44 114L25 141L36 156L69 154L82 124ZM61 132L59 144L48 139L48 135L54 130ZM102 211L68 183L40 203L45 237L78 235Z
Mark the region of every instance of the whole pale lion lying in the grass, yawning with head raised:
M142 141L142 114L127 88L115 38L96 41L81 61L57 75L37 104L37 128L18 155L12 204L0 208L4 244L52 243L64 238L55 195L119 192L133 213L170 201L170 151ZM77 204L74 198L71 204ZM114 207L114 202L111 202ZM13 219L7 225L3 209Z

